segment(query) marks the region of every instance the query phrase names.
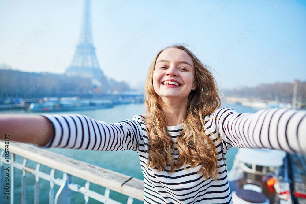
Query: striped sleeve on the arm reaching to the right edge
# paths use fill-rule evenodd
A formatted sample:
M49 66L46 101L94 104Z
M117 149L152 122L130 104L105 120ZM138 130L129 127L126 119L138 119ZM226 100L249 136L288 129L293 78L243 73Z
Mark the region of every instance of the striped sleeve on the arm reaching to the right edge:
M216 126L225 149L267 148L306 153L306 111L267 109L257 113L237 113L218 109Z

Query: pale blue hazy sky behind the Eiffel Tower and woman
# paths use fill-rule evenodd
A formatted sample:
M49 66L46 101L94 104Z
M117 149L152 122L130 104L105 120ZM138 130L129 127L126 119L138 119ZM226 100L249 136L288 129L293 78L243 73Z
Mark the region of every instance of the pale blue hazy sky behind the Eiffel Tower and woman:
M116 4L120 6L107 16ZM83 35L83 7L84 0L1 1L0 64L64 73L73 56L58 67L55 63ZM143 85L159 50L184 41L212 68L221 88L306 77L306 1L92 0L91 8L101 69L132 86ZM146 28L145 34L138 34ZM31 44L18 53L29 40ZM118 54L131 43L125 54Z

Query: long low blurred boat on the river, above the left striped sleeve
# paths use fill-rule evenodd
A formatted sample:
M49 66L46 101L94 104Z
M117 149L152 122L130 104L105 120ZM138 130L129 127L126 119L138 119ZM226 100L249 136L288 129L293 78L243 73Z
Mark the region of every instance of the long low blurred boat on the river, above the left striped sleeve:
M64 100L52 102L31 103L29 112L56 112L75 110L94 110L111 108L114 104L111 100Z

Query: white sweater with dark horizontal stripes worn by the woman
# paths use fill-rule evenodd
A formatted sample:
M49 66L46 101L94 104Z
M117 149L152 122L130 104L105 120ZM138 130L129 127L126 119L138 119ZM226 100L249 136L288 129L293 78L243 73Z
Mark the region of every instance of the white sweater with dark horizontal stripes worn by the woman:
M200 165L183 167L170 173L146 168L148 133L141 115L115 124L96 121L82 115L43 114L54 125L54 136L43 147L86 149L94 151L134 150L139 153L144 175L144 203L232 203L227 179L226 152L230 147L269 148L306 152L306 111L287 109L237 113L217 109L205 117L205 133L216 146L218 180L198 174ZM182 124L168 127L175 142ZM174 159L178 157L173 149ZM169 167L170 168L170 167Z

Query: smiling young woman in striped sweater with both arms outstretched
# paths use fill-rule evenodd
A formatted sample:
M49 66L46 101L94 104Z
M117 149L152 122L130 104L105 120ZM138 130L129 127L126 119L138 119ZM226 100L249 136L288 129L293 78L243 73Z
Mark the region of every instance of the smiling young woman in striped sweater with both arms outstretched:
M0 117L0 133L41 147L134 150L144 174L144 203L232 203L230 147L306 152L306 111L219 109L211 73L181 45L155 57L146 83L146 115L115 124L82 115ZM52 127L52 128L51 128Z

